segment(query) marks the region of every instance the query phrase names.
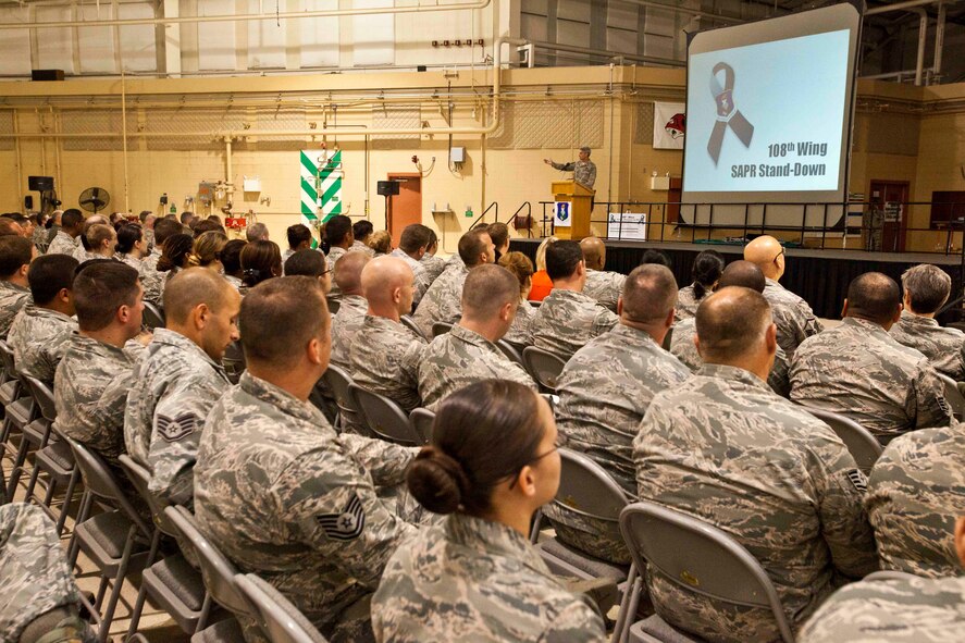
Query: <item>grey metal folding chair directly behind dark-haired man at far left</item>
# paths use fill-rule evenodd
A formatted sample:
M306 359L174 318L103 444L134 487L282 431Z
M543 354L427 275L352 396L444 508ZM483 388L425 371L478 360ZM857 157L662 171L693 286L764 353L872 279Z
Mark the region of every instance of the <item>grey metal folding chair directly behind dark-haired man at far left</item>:
M145 522L131 500L124 495L114 473L103 459L75 440L70 437L64 437L64 440L74 453L74 458L87 487L87 495L81 509L81 516L77 518L78 524L74 527L74 534L79 548L100 569L102 576L97 598L94 605L88 606L91 608L91 614L97 614L102 605L108 583L113 580L107 607L99 617L98 640L107 641L111 622L114 620L114 610L121 598L121 588L124 585L128 569L132 567L141 569L153 561L157 554L154 530ZM87 518L95 497L116 507L116 510ZM145 549L144 543L151 543L151 546ZM74 562L73 555L70 560L71 564ZM82 598L82 601L86 599ZM132 627L137 629L134 615L132 615Z

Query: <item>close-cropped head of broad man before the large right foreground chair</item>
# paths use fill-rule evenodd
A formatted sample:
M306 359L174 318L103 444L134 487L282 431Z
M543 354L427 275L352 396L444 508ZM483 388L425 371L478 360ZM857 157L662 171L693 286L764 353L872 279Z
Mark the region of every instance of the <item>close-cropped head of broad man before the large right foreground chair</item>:
M700 353L705 362L728 364L752 354L771 324L770 305L764 295L728 286L697 307Z

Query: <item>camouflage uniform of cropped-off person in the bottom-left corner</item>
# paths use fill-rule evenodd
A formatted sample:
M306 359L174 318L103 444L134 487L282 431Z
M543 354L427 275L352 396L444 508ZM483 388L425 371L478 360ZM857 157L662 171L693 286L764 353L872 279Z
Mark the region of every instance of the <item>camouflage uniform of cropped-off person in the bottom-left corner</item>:
M96 641L88 625L77 617L81 592L57 528L39 507L20 503L0 506L0 596L2 641L20 641L24 630L30 623L39 625L45 615L55 620L33 632L46 634L42 641Z

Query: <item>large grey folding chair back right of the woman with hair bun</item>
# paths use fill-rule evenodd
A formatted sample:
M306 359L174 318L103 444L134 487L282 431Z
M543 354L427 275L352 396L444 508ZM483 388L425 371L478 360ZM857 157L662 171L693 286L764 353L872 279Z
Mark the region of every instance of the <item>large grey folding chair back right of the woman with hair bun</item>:
M716 527L654 503L620 514L620 531L638 569L651 567L688 591L725 603L770 609L785 643L794 635L767 572Z

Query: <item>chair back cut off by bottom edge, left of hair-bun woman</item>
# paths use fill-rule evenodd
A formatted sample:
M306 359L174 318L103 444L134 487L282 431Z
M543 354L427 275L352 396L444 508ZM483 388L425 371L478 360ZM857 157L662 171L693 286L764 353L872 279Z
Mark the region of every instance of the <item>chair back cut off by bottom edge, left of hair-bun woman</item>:
M235 585L271 643L326 643L311 621L264 579L239 573Z

